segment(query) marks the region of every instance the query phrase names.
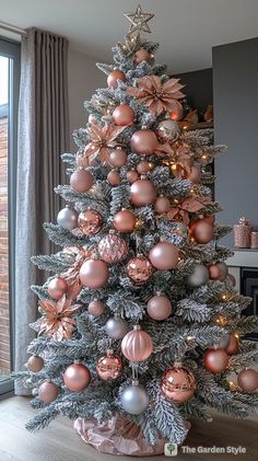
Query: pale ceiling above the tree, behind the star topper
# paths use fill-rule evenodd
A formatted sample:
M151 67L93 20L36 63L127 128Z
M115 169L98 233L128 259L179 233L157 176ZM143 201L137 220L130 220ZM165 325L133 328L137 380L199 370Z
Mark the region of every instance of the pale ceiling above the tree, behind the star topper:
M108 62L110 46L128 30L122 13L139 2L0 0L0 21L64 35L72 49ZM174 73L210 67L212 46L258 36L258 0L141 0L141 7L155 14L150 38Z

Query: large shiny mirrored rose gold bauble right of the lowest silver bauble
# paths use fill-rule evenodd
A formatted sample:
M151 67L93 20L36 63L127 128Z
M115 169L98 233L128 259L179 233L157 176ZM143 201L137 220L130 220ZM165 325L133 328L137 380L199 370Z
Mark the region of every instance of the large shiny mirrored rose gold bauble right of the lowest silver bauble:
M188 402L196 391L196 379L191 371L174 367L162 376L162 392L175 403Z

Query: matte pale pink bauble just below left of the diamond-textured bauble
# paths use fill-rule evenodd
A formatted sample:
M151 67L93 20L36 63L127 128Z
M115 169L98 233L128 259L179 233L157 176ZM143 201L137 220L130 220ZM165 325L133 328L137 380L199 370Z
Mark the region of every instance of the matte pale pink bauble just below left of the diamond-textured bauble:
M87 288L96 289L105 285L108 279L106 263L99 260L87 260L80 269L80 280Z

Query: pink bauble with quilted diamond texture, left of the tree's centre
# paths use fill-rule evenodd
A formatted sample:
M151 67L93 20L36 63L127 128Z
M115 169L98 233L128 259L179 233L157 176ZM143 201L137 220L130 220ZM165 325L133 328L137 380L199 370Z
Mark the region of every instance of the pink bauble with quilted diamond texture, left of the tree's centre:
M127 242L115 231L110 231L108 235L103 237L97 249L101 260L108 264L119 263L125 260L128 253Z

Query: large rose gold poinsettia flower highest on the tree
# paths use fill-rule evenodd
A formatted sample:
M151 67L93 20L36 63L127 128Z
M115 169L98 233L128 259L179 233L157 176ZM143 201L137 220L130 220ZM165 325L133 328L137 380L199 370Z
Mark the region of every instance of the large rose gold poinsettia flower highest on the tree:
M136 96L139 104L144 104L152 115L157 116L177 108L176 101L185 96L180 92L183 87L179 79L169 79L162 83L160 77L146 76L138 79L137 88L128 88L127 93Z

